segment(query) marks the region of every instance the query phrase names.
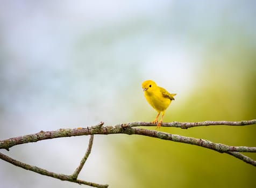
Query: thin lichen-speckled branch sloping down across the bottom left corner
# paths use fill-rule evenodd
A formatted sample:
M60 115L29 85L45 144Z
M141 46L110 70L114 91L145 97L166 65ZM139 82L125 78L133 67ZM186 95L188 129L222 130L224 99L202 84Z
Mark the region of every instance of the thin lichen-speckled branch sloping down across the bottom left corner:
M30 171L33 171L33 172L37 172L37 173L40 173L41 175L50 176L50 177L57 178L57 179L60 179L60 180L65 180L65 181L68 181L68 182L74 182L74 183L78 183L78 184L89 185L89 186L93 186L93 187L99 187L99 188L108 187L108 185L101 185L101 184L96 184L96 183L93 183L93 182L86 182L86 181L81 180L81 179L74 179L73 176L63 175L61 173L50 172L50 171L47 171L45 169L35 167L35 166L32 166L32 165L14 160L13 158L11 158L7 155L4 155L2 153L0 153L0 158L2 160L6 161L6 162L9 162L13 165L16 165L17 167L20 167L20 168L23 168L23 169L26 169L26 170L30 170Z

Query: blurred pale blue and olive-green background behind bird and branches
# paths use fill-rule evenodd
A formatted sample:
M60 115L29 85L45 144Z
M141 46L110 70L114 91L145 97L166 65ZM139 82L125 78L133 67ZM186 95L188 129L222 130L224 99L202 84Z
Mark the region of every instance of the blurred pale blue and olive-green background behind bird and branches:
M0 140L99 121L152 121L146 79L177 93L165 122L256 118L255 1L0 4ZM256 146L255 125L160 131ZM45 140L1 152L71 174L88 141ZM81 187L2 160L0 167L2 187ZM255 187L255 175L252 165L209 149L96 135L79 178L109 187Z

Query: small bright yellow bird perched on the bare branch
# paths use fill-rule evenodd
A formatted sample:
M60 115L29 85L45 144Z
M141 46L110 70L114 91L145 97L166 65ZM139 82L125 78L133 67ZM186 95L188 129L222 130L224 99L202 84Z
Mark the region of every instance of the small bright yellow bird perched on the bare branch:
M144 91L145 98L147 102L158 112L157 117L152 122L157 125L157 128L161 127L163 115L165 115L165 110L170 105L170 102L174 100L176 93L170 94L165 89L157 86L157 84L152 80L147 80L142 83L142 89ZM158 117L162 112L162 117L158 122Z

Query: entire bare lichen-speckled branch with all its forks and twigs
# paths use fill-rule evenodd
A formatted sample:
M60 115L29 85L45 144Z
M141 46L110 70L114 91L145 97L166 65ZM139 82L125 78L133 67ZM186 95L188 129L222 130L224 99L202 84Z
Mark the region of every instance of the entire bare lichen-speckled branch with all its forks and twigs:
M8 157L2 153L0 153L0 158L18 167L40 173L41 175L51 176L61 180L68 180L70 182L75 182L75 183L85 184L85 185L90 185L95 187L108 187L108 185L101 185L101 184L86 182L86 181L77 179L77 176L79 175L81 169L83 168L84 163L86 162L90 154L91 147L93 146L93 138L94 138L93 135L94 134L106 134L106 135L107 134L129 134L129 135L137 134L137 135L150 136L150 137L158 138L162 140L194 144L196 146L212 149L220 153L226 153L226 154L232 155L236 158L239 158L239 160L242 160L248 164L256 166L256 161L240 153L240 152L256 153L256 147L227 146L226 144L214 143L204 139L196 139L196 138L191 138L191 137L186 137L186 136L181 136L176 134L169 134L165 132L159 132L159 131L148 130L143 128L134 128L137 126L155 126L151 122L129 122L126 124L118 124L115 126L103 126L103 124L104 124L103 122L100 122L96 126L90 126L85 128L79 127L79 128L73 128L73 129L70 129L70 128L58 129L56 131L40 131L39 133L18 136L16 138L10 138L10 139L0 141L0 149L9 150L9 148L16 146L18 144L37 142L37 141L46 140L46 139L69 137L69 136L90 135L89 146L86 151L86 154L82 158L79 167L77 167L73 175L70 175L70 176L49 172L45 169L41 169L38 167L33 167L29 164L25 164L17 160L14 160L11 157ZM191 128L191 127L197 127L197 126L210 126L210 125L211 126L216 126L216 125L245 126L245 125L253 125L253 124L256 124L255 119L250 121L169 122L169 123L163 123L162 126Z

